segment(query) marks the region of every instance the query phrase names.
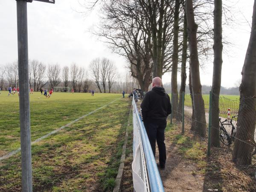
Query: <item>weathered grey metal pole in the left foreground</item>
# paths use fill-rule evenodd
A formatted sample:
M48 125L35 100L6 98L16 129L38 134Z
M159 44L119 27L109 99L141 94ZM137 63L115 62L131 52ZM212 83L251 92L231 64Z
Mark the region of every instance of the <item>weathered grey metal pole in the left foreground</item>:
M32 192L27 1L17 0L22 191Z

